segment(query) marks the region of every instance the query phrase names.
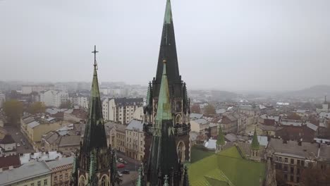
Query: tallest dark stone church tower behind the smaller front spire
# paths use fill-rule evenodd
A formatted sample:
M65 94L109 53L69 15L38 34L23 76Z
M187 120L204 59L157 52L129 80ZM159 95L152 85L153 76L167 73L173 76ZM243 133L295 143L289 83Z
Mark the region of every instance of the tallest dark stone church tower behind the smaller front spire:
M165 65L163 61L166 61ZM183 80L181 80L181 75L179 73L170 0L166 1L157 73L152 82L149 82L147 105L144 109L145 123L149 125L149 127L152 127L154 123L156 123L164 68L166 68L166 79L169 89L169 94L166 95L169 97L169 113L171 113L171 121L176 131L173 138L178 160L181 162L190 161L190 99L188 99L186 85ZM149 159L151 144L152 132L146 131L145 161Z

